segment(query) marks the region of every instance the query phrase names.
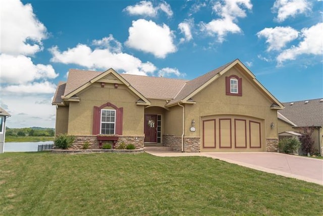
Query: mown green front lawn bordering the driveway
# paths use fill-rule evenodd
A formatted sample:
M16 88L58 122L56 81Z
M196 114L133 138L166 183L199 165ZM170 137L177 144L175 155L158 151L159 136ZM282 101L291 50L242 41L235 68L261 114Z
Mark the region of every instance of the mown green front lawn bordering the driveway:
M206 157L4 153L1 215L322 215L323 187Z

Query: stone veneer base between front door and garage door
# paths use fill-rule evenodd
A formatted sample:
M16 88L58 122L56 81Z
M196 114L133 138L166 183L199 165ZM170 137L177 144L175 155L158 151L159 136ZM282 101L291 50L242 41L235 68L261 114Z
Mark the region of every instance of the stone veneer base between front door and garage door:
M163 135L163 145L182 151L182 138L175 135ZM200 152L199 137L184 137L184 152Z

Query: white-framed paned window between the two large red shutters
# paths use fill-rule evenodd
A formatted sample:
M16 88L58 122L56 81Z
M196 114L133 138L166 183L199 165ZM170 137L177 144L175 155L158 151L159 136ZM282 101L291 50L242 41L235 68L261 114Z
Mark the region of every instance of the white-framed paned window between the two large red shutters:
M116 110L101 109L101 134L115 134Z

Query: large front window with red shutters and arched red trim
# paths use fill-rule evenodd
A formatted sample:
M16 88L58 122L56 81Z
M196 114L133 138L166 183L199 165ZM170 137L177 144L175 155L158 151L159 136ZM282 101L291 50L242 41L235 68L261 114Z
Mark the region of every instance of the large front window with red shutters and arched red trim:
M112 109L105 107L112 107ZM118 108L109 102L102 104L100 107L94 106L92 134L122 135L122 121L123 107Z

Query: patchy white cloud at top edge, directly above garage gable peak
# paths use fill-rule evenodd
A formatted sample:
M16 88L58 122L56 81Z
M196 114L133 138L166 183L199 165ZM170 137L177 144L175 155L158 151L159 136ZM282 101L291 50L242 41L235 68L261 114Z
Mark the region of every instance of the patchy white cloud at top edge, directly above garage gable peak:
M236 24L237 18L246 17L246 10L252 9L250 1L230 1L224 3L217 2L212 7L213 11L219 15L220 19L213 19L209 23L200 23L202 31L208 35L218 35L218 41L223 42L228 33L240 33L242 30Z

